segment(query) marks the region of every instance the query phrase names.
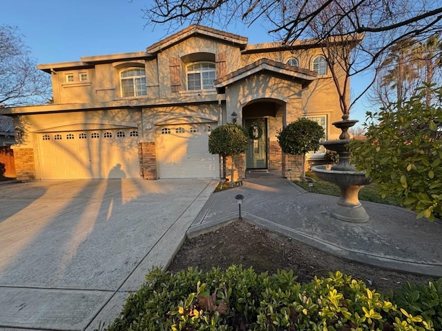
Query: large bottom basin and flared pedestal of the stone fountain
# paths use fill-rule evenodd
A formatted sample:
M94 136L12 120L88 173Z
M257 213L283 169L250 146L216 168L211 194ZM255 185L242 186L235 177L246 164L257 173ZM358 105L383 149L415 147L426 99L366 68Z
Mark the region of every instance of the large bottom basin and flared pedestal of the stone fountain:
M359 191L372 182L363 171L333 170L332 165L314 165L311 167L316 176L323 181L335 183L340 188L340 197L332 216L341 221L365 223L369 216L358 199Z

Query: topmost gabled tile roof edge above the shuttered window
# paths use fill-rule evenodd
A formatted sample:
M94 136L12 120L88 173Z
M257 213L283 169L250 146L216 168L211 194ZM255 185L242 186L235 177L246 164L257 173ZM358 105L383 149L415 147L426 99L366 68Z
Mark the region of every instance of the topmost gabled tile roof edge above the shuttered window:
M184 39L194 36L220 39L222 41L238 45L242 49L247 46L247 41L249 40L247 37L242 37L238 34L233 34L230 32L209 28L207 26L198 26L194 24L192 26L189 26L188 28L185 28L184 30L181 30L180 32L172 34L171 36L158 41L157 43L154 43L152 46L148 46L148 48L146 48L146 52L161 52L162 50L169 48L176 43L180 43L180 41L183 41Z

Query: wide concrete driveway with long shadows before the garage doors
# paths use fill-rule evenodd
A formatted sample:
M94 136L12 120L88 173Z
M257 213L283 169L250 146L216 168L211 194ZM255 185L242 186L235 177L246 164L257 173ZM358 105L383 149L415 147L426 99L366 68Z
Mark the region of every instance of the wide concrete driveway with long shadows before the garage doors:
M0 330L93 330L168 265L216 181L0 185Z

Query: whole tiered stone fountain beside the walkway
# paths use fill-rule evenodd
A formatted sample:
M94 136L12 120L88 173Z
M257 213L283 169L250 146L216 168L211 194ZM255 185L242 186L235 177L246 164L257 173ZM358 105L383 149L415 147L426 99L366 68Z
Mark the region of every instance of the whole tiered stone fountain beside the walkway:
M358 194L361 188L372 182L372 179L365 177L365 172L356 171L350 164L350 152L347 150L347 143L350 141L349 128L354 126L358 120L348 119L348 114L343 115L343 121L332 123L336 128L342 130L339 140L329 140L320 143L327 150L334 150L339 154L339 163L335 165L315 165L311 167L316 176L324 181L335 183L340 188L340 198L336 203L332 216L341 221L352 223L365 223L369 216L361 202Z

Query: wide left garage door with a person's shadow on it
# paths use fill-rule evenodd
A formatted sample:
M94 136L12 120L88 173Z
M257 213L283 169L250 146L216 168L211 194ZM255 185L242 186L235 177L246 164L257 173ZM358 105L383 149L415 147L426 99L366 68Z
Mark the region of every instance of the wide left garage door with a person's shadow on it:
M39 134L42 179L140 177L136 128Z

